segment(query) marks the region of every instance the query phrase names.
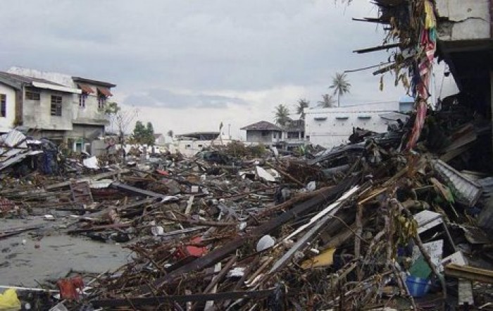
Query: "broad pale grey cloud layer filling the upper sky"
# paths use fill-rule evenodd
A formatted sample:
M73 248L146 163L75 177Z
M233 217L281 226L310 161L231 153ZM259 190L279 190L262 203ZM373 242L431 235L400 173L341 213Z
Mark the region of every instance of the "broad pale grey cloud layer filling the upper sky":
M197 92L328 84L382 59L351 53L382 37L349 22L372 15L363 1L345 16L332 0L4 2L1 67L70 71L127 92L149 82Z

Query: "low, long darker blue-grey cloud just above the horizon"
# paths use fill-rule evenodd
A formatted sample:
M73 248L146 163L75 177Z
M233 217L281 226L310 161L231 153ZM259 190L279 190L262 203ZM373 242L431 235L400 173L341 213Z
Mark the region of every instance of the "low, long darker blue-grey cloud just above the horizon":
M243 99L209 94L178 94L169 90L152 89L131 94L123 104L135 106L158 106L170 109L204 108L222 109L228 105L246 105Z

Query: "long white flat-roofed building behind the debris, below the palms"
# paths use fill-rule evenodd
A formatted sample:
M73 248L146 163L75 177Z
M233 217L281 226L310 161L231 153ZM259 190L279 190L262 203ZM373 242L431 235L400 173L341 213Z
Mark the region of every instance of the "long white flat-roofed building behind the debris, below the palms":
M401 102L305 109L306 140L313 145L331 148L347 144L353 128L382 133L398 118L405 121L406 115L398 111L409 111L412 105L409 99L403 99Z

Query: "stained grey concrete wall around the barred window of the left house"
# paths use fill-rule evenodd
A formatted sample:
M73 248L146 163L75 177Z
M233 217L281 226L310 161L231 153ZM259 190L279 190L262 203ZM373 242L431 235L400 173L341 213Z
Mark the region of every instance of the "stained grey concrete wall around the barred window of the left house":
M42 130L72 130L73 94L40 90L40 100L25 99L23 92L23 126ZM62 97L62 115L51 116L51 95Z

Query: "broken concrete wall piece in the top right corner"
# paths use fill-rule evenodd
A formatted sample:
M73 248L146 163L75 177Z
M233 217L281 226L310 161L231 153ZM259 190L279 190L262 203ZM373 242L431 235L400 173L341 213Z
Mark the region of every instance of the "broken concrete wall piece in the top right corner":
M442 41L489 39L490 0L436 0Z

